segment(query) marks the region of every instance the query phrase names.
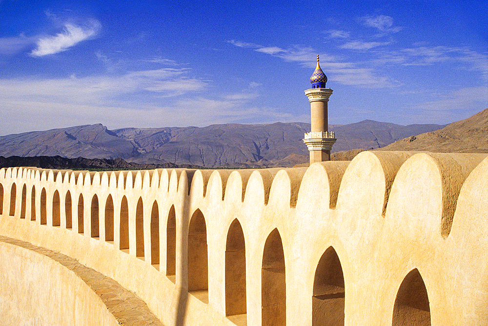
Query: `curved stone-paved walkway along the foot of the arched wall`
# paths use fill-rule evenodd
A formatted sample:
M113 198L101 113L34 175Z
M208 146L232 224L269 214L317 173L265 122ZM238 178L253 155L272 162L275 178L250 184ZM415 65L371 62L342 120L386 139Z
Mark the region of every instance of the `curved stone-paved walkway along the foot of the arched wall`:
M38 252L72 270L97 293L120 325L163 326L161 321L149 310L141 298L126 288L122 288L119 283L99 273L95 269L81 265L76 259L53 250L34 246L29 242L5 236L0 236L0 241Z

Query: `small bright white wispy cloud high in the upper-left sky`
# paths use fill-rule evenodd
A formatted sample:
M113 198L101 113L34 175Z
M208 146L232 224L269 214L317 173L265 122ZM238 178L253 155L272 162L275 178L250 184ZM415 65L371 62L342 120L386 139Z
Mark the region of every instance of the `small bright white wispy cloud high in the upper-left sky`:
M66 51L81 41L94 37L100 27L97 20L90 21L88 26L66 23L63 31L56 36L39 38L37 48L32 51L31 55L42 57Z

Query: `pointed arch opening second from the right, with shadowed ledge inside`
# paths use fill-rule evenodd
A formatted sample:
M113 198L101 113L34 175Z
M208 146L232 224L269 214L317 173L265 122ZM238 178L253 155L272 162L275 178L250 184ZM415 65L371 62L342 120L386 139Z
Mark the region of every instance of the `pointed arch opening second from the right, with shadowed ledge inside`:
M345 298L341 261L334 248L329 247L315 269L312 326L343 326Z

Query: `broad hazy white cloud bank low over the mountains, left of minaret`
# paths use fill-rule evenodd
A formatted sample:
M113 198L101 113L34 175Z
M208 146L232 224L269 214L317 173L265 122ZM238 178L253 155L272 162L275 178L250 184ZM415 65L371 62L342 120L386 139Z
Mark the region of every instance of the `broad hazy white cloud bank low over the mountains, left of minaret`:
M189 71L164 68L118 77L0 79L0 134L93 123L116 129L297 120L277 109L252 106L259 96L255 89L205 97L199 91L208 81L190 78Z

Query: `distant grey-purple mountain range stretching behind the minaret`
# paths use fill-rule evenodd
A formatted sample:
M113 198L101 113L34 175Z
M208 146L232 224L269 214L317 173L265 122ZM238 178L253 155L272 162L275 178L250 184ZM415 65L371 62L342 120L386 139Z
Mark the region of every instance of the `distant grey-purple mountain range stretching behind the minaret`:
M331 125L334 151L374 149L443 128L364 120ZM141 164L190 164L208 168L293 166L308 161L302 142L307 123L223 124L208 127L123 128L102 124L0 136L2 156L122 158Z

